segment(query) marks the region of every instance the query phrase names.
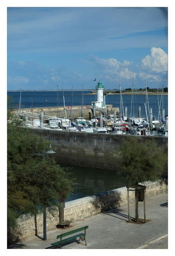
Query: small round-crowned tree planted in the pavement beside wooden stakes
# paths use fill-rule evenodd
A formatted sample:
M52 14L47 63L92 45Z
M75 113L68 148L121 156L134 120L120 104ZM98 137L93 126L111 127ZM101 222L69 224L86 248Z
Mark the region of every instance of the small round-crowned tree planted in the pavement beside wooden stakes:
M128 137L121 146L120 175L126 185L135 189L135 221L138 222L139 183L156 181L167 167L167 151L160 149L151 137Z

